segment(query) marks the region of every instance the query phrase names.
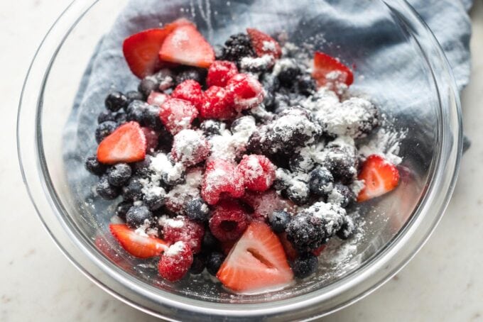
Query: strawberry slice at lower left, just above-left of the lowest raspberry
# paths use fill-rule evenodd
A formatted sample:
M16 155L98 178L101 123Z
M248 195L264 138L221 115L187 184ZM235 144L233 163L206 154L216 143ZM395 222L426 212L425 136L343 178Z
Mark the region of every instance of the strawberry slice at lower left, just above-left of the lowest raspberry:
M138 235L124 223L112 223L109 231L129 254L139 257L154 257L164 252L169 244L156 237Z

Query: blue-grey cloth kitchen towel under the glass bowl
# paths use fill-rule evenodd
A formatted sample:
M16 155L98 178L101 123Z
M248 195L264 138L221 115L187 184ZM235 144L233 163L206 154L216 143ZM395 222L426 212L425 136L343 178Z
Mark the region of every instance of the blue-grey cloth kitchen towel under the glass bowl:
M305 2L310 4L309 11L303 10ZM450 62L457 86L462 89L470 77L471 24L467 11L472 0L409 2L433 30ZM388 9L384 9L379 1L278 0L276 3L277 6L273 6L272 0L129 1L116 18L112 29L99 42L80 84L65 128L64 157L67 168L76 170L67 174L70 176L69 182L82 189L89 186L89 181L94 180L87 172L79 169L85 157L95 152L95 119L99 111L104 109L103 101L107 92L113 88L121 91L136 89L139 82L124 61L121 52L124 38L180 16L195 21L211 43L222 43L232 33L254 26L267 33L285 30L289 40L295 42L310 38L315 48L325 48L332 44L332 53L341 57L344 62L352 62L352 59L357 58L359 50L364 50L364 60L371 62L367 65L371 69L357 70L357 73L376 74L377 82L356 82L355 88L369 94L383 93L386 96L381 97L381 104L400 104L408 111L424 111L428 102L422 98L428 95L422 91L418 93L418 87L414 84L427 82L428 73L420 72L420 62L414 59L414 52L408 47L414 46L408 44L401 31L396 30L396 26L388 21ZM277 8L286 9L280 13ZM274 16L277 18L273 18ZM210 32L212 28L217 30L216 35ZM338 30L344 32L338 33ZM344 37L340 37L340 34ZM394 77L398 77L398 82L394 81ZM412 84L408 91L403 91L405 84ZM432 129L422 128L416 131Z

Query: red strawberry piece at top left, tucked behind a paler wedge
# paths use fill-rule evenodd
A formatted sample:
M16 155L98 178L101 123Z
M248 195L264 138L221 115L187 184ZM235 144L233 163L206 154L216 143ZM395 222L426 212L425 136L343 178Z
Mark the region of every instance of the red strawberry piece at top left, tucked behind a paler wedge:
M164 28L143 30L124 39L122 52L127 65L139 78L153 74L163 66L159 60L159 50L165 38L179 26L192 26L187 19L181 18L168 23Z

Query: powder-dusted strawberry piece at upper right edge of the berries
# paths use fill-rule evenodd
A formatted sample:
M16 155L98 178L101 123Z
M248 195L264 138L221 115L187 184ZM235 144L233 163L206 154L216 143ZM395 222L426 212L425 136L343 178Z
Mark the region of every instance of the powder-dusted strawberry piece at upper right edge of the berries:
M349 67L323 52L315 52L312 77L319 87L337 87L337 83L349 86L354 82L354 74Z

